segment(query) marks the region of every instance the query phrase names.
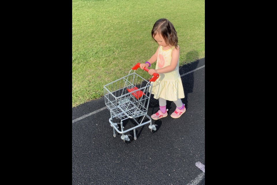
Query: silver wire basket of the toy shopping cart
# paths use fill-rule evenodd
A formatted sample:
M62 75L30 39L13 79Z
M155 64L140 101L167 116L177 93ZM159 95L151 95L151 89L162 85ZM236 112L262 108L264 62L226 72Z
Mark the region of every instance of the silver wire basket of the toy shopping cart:
M105 104L116 118L142 116L147 114L151 87L143 77L131 73L104 86Z

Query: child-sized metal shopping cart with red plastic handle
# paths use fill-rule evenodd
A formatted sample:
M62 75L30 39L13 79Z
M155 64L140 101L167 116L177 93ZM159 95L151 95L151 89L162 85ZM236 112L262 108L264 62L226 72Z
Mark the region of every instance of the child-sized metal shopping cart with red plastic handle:
M151 82L155 82L159 74L154 73L153 77L147 81L135 73L139 68L139 64L137 63L127 76L104 86L105 104L111 113L109 122L111 127L113 127L113 136L116 136L115 131L122 134L121 139L124 143L130 143L133 139L132 135L125 135L126 132L134 130L134 140L136 140L136 128L150 123L148 127L151 129L151 132L156 132L158 126L152 125L152 120L147 115L147 110L152 91ZM134 70L133 73L131 73L132 70ZM147 68L144 68L144 70L149 71ZM137 121L136 118L138 117L142 117L142 120ZM123 121L129 118L133 119L137 125L124 130ZM120 123L113 122L114 119L120 119ZM119 126L121 131L119 131Z

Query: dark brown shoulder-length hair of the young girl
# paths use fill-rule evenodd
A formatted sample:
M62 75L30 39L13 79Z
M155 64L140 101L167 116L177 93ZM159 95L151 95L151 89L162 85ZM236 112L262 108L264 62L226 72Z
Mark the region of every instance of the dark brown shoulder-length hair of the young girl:
M167 45L175 46L175 48L178 48L177 32L173 24L166 18L161 18L156 21L152 28L151 34L152 38L154 38L156 34L160 34L164 38L164 41Z

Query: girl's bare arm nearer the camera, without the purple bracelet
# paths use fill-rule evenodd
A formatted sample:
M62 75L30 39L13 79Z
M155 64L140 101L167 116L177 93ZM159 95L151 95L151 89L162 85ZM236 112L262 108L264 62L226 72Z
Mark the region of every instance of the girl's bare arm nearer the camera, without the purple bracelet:
M172 50L172 53L171 53L171 63L169 66L166 66L164 68L161 68L161 69L150 69L148 71L149 75L153 75L153 73L168 73L170 71L173 71L176 66L177 66L177 63L178 63L178 60L179 60L179 55L180 55L180 49L176 49L174 48ZM151 62L150 62L151 63Z

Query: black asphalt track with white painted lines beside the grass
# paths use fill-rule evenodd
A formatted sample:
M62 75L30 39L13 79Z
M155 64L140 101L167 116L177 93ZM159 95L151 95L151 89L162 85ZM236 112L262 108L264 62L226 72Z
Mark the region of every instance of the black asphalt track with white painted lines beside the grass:
M180 66L179 73L186 112L171 118L176 106L167 101L169 115L152 120L157 131L139 127L128 144L113 136L103 97L72 108L72 184L205 184L205 58ZM158 109L151 95L147 114ZM132 119L124 122L132 126Z

